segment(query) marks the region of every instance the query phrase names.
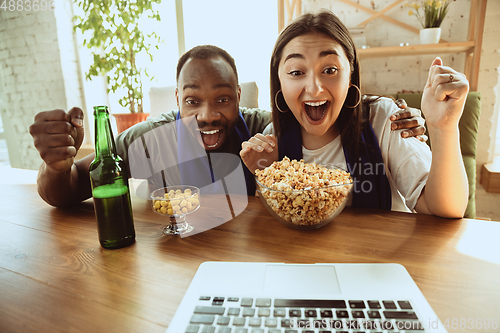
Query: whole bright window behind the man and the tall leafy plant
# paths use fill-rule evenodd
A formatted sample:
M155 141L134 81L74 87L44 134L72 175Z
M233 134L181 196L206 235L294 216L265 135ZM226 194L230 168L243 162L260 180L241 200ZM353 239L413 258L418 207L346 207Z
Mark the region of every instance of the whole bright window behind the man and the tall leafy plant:
M278 35L277 3L269 0L183 0L182 6L185 49L213 44L228 51L236 61L239 81L255 81L259 87L259 107L270 110L269 62ZM144 19L142 29L145 35L155 32L164 42L158 45L158 49L152 49L152 62L147 56L137 59L138 65L145 67L150 77L154 77L153 80L145 75L142 78L144 112L150 110L148 92L151 87L176 84L179 58L175 1L163 1L155 8L160 12L161 22ZM81 9L74 6L75 14L79 11ZM81 46L83 38L77 31L82 73L85 73L93 57L89 49ZM106 94L105 78L84 80L84 90L89 120L95 105L109 105L111 113L127 112L118 104L122 92ZM92 123L90 132L93 138Z

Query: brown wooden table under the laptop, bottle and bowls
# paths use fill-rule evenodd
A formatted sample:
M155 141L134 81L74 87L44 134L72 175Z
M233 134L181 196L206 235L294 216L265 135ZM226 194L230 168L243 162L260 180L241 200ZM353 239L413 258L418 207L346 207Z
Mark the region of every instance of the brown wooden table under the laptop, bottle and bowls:
M450 332L500 330L484 329L500 324L498 222L346 208L299 231L251 197L230 222L180 238L134 198L136 243L105 250L90 200L57 209L35 185L7 184L0 202L0 332L164 332L204 261L400 263ZM460 329L462 318L483 329Z

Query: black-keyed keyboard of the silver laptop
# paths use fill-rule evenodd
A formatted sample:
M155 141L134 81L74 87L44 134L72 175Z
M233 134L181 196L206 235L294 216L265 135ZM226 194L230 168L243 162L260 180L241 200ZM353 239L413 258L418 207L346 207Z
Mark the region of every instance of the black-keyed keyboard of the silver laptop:
M201 296L185 333L425 332L408 300Z

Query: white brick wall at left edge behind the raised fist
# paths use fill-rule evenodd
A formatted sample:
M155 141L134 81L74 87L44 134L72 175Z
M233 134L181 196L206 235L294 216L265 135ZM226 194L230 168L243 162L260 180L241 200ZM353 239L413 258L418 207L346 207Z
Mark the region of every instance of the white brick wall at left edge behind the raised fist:
M13 167L41 164L28 132L37 112L81 105L71 30L58 34L71 18L66 7L61 0L55 11L0 10L0 110Z

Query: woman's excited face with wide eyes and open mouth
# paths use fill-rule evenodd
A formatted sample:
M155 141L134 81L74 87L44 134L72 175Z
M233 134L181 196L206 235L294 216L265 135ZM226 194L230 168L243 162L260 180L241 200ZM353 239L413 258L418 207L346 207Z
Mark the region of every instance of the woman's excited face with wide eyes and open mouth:
M322 34L295 37L283 48L278 77L286 103L309 135L338 134L338 128L332 126L351 77L339 43Z

